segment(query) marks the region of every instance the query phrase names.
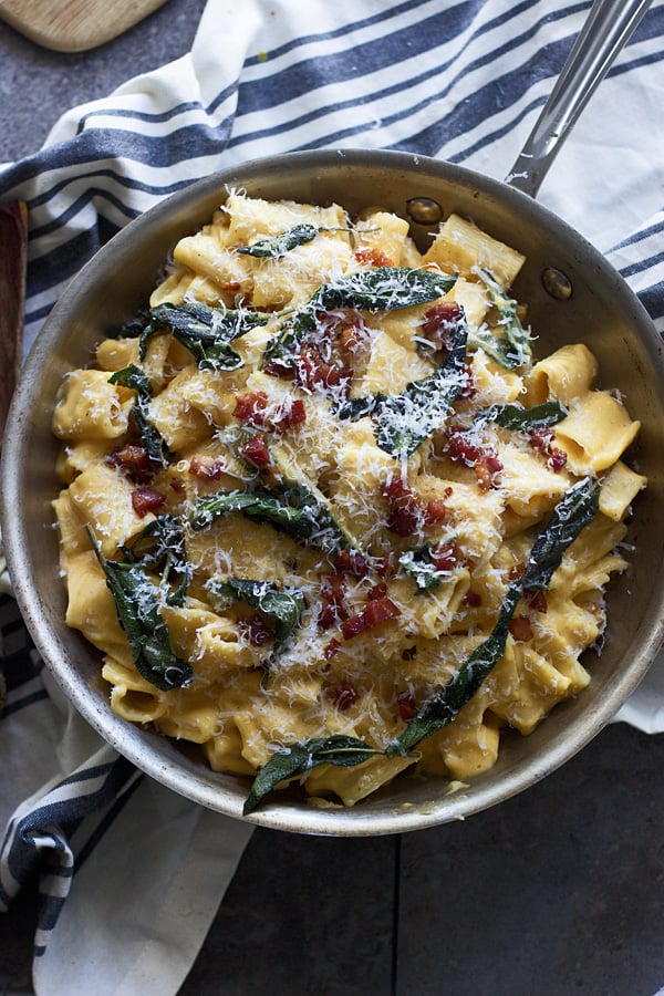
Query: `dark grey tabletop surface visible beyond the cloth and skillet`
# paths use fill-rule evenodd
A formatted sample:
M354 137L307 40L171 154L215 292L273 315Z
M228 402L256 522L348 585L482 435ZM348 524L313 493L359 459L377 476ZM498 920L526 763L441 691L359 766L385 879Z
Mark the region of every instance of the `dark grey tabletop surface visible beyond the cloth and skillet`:
M0 23L0 162L39 148L68 107L184 54L203 8L169 0L74 55ZM257 830L180 996L654 996L663 769L664 736L615 725L463 823L375 840ZM35 906L27 890L0 915L2 996L31 992Z

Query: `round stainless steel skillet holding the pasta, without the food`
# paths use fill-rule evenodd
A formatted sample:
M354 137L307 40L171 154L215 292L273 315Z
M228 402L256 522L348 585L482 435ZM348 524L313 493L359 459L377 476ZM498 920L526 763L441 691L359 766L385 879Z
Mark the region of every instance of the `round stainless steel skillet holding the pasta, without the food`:
M591 23L604 23L596 11L608 11L610 19L632 11L633 24L646 6L600 4L593 8ZM622 29L623 37L626 30ZM591 32L590 41L595 37ZM613 51L616 44L610 41ZM584 59L581 64L588 65ZM569 108L564 102L558 106ZM547 114L551 113L549 108ZM571 122L575 111L568 110L564 116ZM562 125L553 126L548 120L543 137L536 129L540 138L517 160L510 184L434 159L357 149L279 156L207 177L120 232L74 279L40 334L17 391L2 454L2 526L17 598L39 650L83 716L117 750L174 790L239 817L248 786L239 778L210 772L173 741L129 726L111 712L98 654L64 625L65 596L51 526L58 447L50 421L63 374L85 364L107 328L122 323L144 303L173 243L209 218L227 187L241 186L250 195L270 199L338 200L351 211L380 204L409 217L422 246L435 220L430 212L438 206L444 215L454 210L471 217L521 250L528 261L515 294L529 304L539 352L543 355L577 341L593 350L602 385L620 390L631 414L642 422L632 457L651 481L635 502L630 536L635 543L634 566L610 593L604 651L591 665L593 682L582 696L557 707L530 737L506 736L497 766L454 795L443 779L404 778L352 810L314 809L279 795L252 819L272 828L360 836L407 831L469 816L527 788L569 759L610 720L654 657L664 631L662 344L637 299L601 253L528 196L543 176L541 168L533 168L540 160L529 157L548 145L551 129L559 128L557 147L564 137ZM546 149L541 159L546 166L552 151ZM556 273L564 279L553 279Z

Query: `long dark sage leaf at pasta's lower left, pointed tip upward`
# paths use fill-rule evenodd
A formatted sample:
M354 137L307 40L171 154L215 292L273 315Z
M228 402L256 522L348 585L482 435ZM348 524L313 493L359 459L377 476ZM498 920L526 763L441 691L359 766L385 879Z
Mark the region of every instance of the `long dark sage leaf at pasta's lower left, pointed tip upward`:
M180 688L194 677L191 665L177 656L159 611L158 589L142 566L107 560L93 529L87 535L126 633L136 671L162 692Z

